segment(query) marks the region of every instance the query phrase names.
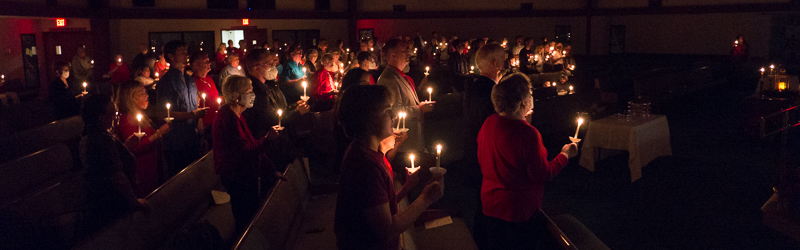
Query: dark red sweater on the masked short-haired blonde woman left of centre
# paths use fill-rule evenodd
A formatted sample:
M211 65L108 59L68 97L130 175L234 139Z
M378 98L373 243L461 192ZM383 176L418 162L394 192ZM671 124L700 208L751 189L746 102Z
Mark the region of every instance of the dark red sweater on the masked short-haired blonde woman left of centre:
M266 137L256 140L243 116L236 116L228 104L222 105L212 126L214 170L223 179L255 180L275 167L263 153ZM263 166L263 167L260 167ZM264 172L259 169L264 169Z

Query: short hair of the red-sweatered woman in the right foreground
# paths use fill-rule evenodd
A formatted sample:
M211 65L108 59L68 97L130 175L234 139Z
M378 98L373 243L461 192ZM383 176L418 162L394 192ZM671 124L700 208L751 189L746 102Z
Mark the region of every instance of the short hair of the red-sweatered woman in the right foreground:
M504 77L492 88L492 104L497 113L513 113L531 96L531 80L522 73Z

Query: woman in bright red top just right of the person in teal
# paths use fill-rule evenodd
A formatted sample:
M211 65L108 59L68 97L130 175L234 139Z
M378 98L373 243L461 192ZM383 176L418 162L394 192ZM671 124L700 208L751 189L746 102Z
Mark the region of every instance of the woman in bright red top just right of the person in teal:
M311 83L309 86L314 92L311 94L311 111L322 112L333 109L334 98L339 93L338 86L335 82L335 73L332 72L334 67L333 56L325 54L322 56L320 64L321 69L317 69L311 75Z

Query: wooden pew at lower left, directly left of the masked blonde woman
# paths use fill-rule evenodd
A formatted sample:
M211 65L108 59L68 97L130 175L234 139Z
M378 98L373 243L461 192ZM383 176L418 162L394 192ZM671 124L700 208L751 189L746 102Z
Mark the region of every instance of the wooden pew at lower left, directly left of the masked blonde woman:
M128 214L73 249L156 249L201 218L216 218L210 221L224 239L234 230L233 215L230 203L214 205L211 190L220 188L212 151L148 195L150 211Z

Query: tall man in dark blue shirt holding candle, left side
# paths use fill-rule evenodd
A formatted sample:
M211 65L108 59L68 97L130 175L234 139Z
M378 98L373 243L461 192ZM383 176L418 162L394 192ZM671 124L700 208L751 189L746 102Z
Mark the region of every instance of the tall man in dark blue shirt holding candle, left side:
M198 108L198 92L194 78L186 74L188 59L186 43L171 41L164 45L164 55L169 60L170 68L156 85L158 96L159 120L167 117L166 104L172 104L169 111L172 121L172 132L164 136L164 156L167 162L168 176L173 176L200 157L200 140L198 132L200 119L206 116L208 108Z

